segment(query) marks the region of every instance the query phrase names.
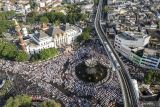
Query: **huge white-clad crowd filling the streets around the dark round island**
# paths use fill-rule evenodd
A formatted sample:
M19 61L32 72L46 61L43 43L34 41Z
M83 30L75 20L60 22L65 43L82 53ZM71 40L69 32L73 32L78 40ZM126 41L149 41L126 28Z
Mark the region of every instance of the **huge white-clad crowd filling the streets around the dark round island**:
M98 83L85 83L75 75L75 66L95 58L108 67L107 76ZM35 63L18 63L0 60L0 68L6 72L24 75L23 79L37 84L52 98L62 101L66 107L108 106L111 101L120 102L122 93L116 72L110 68L104 49L98 41L90 42L68 54L61 54L54 59ZM23 82L23 81L22 81ZM24 83L21 83L24 84ZM31 85L26 85L23 91ZM34 88L33 88L34 90ZM19 90L20 91L20 90Z

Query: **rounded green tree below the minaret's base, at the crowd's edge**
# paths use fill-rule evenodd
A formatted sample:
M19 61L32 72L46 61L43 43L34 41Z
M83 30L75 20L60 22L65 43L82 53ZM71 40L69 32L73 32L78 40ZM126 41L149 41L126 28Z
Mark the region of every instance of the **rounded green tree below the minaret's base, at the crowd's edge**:
M15 60L18 62L28 61L29 55L25 51L17 52Z

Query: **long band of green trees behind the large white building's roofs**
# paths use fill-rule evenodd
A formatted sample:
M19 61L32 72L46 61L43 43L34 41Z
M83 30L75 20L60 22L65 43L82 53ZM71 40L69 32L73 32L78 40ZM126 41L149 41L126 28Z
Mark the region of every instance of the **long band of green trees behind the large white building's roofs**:
M59 23L71 23L75 24L78 21L84 21L87 17L86 14L81 12L81 8L77 5L68 5L67 6L67 15L65 15L62 12L47 12L41 15L38 15L36 12L31 12L27 15L26 21L30 24L35 23L35 21L38 21L40 23L56 23L57 21Z

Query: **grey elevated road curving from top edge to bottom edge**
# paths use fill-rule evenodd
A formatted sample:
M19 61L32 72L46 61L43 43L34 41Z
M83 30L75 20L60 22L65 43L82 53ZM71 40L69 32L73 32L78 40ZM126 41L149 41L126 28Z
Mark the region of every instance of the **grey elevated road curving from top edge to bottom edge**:
M135 94L135 90L128 74L127 70L124 68L123 62L117 55L113 46L110 44L108 37L105 35L101 26L101 12L102 12L103 0L99 1L97 8L97 14L95 18L95 29L96 32L103 43L103 46L108 54L108 57L113 65L113 70L118 74L119 81L121 84L123 102L125 107L138 107L138 100Z

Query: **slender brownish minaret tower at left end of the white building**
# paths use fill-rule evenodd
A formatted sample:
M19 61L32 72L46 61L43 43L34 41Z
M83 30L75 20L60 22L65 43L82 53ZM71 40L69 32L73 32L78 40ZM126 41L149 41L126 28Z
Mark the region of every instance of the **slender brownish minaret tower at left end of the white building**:
M25 41L23 40L23 35L22 35L22 33L21 33L21 27L19 26L19 23L17 22L16 19L14 19L14 23L15 23L15 30L16 30L16 32L17 32L20 45L21 45L22 49L25 51L25 50L26 50L26 43L25 43Z

